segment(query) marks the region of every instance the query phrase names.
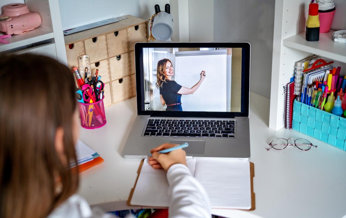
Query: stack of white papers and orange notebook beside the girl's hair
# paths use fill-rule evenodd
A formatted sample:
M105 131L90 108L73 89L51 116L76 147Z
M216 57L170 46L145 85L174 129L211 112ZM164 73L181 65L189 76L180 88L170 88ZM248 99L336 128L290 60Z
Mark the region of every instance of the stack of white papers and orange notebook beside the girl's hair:
M103 162L103 159L100 157L98 152L86 146L80 140L77 141L75 150L77 164L71 163L71 167L73 167L75 170L78 169L78 172L82 172ZM78 168L76 168L76 165L78 165Z

